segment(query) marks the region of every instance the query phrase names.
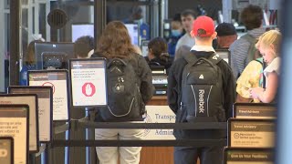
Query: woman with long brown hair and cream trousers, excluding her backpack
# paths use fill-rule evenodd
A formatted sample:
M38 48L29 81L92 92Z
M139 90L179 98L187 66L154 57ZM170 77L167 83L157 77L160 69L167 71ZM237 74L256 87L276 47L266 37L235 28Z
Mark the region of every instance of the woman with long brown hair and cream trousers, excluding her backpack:
M139 93L141 93L140 95L141 98L139 98L140 100L138 100L137 102L136 98L133 99L135 101L133 104L137 104L137 106L139 106L138 108L140 108L139 109L140 111L141 108L145 108L145 104L147 104L147 102L151 100L154 88L152 85L151 69L148 66L146 60L143 58L143 56L138 55L136 53L135 48L131 45L129 32L127 30L127 27L124 26L122 22L112 21L105 27L102 35L99 38L97 50L95 54L93 54L91 57L105 57L108 61L114 58L119 58L124 61L128 61L127 65L130 64L131 67L133 67L136 73L135 76L137 76L137 78L139 79L138 80L139 82L135 84L137 85L137 87L140 87ZM120 69L118 70L120 71ZM129 82L129 80L134 79L120 78L120 83L127 81ZM110 90L112 90L111 95L114 95L115 92L119 92L121 87L123 86L117 86L114 88L110 87ZM133 87L132 90L134 89L135 88ZM115 99L115 97L110 97L110 94L108 95L109 95L108 99L110 99L109 102L119 101L118 99ZM125 100L124 97L119 98ZM111 105L108 106L110 107ZM131 109L135 111L138 110L133 108ZM111 110L119 110L119 108L111 108L110 111ZM132 123L143 122L143 116L141 116L141 113L137 113L137 115L139 115L139 117L131 118L131 120L129 121ZM97 122L106 121L102 116L102 111L98 111L96 121ZM105 139L138 140L142 139L143 132L144 129L96 128L95 138L98 140ZM119 163L119 159L120 164L138 164L140 161L141 147L97 147L96 150L100 164L117 164Z

